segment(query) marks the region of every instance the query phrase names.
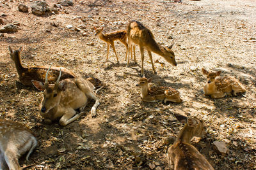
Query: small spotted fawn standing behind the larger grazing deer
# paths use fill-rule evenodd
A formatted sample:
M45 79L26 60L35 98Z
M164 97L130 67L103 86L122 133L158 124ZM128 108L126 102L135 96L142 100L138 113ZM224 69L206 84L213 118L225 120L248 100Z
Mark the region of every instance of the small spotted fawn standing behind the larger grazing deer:
M119 62L118 56L116 53L115 43L114 43L114 41L117 39L126 46L125 60L127 60L128 44L127 44L127 34L125 30L108 32L106 34L103 34L102 33L103 27L101 29L97 29L96 27L93 27L93 28L95 29L95 36L99 36L100 39L102 39L108 44L108 52L107 52L106 60L108 60L109 46L111 45L113 48L113 51L115 52L116 60L117 62Z

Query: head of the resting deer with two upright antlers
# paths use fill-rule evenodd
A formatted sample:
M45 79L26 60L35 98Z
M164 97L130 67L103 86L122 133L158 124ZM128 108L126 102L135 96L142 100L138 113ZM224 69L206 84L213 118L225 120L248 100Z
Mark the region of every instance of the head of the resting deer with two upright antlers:
M65 82L59 83L61 77L61 69L58 79L56 80L54 85L49 85L47 77L51 66L49 67L45 75L45 83L32 80L32 83L36 87L36 89L44 91L44 98L42 99L42 102L40 104L40 113L42 114L48 113L50 110L52 110L52 108L58 106L58 104L60 103L61 92L65 90L66 85Z

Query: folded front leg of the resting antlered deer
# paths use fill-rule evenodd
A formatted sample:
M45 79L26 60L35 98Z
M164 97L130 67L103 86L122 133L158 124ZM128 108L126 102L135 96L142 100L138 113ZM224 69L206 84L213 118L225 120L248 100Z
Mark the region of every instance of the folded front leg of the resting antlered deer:
M59 123L63 126L68 125L71 122L74 122L74 120L77 120L77 118L81 117L83 113L84 112L76 114L76 110L74 110L73 108L67 108L65 109L65 113L63 114L63 116L60 118Z

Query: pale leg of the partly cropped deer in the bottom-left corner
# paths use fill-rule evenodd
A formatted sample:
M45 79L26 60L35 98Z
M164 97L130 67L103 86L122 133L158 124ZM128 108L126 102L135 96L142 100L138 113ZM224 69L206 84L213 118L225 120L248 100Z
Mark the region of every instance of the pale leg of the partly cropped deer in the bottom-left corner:
M6 151L4 153L4 159L10 170L21 170L17 155L15 155L13 152Z

